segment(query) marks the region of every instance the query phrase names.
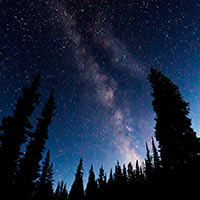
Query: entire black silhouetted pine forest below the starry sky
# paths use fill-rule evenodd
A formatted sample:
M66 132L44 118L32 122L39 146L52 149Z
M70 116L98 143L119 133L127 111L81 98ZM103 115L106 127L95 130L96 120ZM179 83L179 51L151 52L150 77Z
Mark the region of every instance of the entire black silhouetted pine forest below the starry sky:
M53 191L53 164L48 151L43 153L48 139L48 126L54 116L53 90L43 107L33 131L30 117L40 103L36 75L30 87L23 89L13 114L2 119L0 126L0 195L1 199L20 200L102 200L173 197L194 193L200 178L200 140L188 118L189 103L179 88L162 72L151 68L148 80L153 88L156 148L146 143L144 165L138 160L121 166L117 161L107 177L101 167L96 177L89 170L86 188L83 186L83 160L80 159L71 190L62 181ZM22 153L22 146L26 145ZM162 199L161 198L161 199Z

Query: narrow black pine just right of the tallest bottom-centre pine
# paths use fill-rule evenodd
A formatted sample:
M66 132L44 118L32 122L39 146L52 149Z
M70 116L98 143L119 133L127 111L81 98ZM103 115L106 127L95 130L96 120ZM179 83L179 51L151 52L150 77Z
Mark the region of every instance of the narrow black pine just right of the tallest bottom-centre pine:
M97 182L95 180L93 166L91 166L90 171L89 171L85 197L86 197L86 200L93 200L97 198Z

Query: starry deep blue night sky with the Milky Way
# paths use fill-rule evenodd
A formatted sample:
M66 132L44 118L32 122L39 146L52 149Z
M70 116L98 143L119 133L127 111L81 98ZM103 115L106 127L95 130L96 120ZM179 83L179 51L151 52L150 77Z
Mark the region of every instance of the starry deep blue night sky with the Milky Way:
M68 187L80 157L107 174L142 161L154 135L150 67L177 84L200 136L200 0L0 0L0 119L34 74L49 127L55 182Z

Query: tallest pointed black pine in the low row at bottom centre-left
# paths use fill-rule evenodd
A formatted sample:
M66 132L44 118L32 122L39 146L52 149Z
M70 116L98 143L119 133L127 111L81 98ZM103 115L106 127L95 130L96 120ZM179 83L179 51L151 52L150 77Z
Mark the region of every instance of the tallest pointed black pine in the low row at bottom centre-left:
M84 199L84 189L83 189L83 160L80 159L80 163L78 165L75 180L72 184L70 193L70 200L83 200Z

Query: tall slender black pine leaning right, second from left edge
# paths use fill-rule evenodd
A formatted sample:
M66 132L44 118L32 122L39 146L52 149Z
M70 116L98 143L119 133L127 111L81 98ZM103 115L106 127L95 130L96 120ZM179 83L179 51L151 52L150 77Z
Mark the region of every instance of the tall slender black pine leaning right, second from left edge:
M36 187L36 181L40 175L40 161L48 139L48 126L54 116L55 102L53 90L47 103L44 105L41 117L33 133L32 140L26 147L26 153L20 161L20 169L17 174L17 189L21 199L31 199Z

